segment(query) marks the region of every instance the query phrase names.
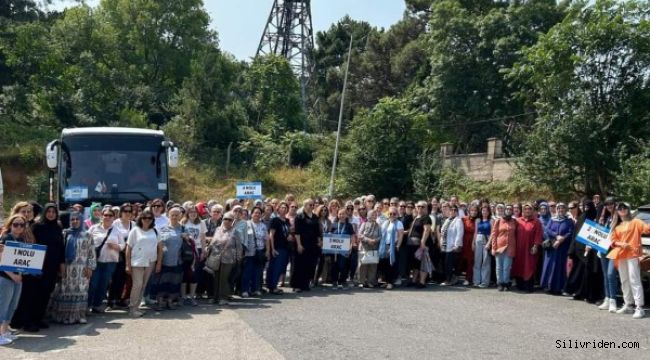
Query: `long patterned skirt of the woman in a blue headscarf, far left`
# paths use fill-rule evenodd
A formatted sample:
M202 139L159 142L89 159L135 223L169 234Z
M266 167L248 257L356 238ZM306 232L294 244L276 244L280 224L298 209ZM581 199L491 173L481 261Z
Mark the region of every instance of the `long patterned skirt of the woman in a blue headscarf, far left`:
M84 276L85 267L84 264L65 267L63 279L52 293L49 308L52 321L75 324L86 318L90 279Z

